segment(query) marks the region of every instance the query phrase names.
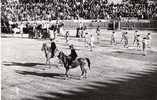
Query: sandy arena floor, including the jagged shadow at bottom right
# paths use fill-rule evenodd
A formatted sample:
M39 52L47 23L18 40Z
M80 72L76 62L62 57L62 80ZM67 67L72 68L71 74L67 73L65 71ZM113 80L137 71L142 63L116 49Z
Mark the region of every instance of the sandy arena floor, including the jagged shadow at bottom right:
M71 77L65 80L65 69L56 67L57 59L51 59L51 68L43 70L47 66L41 46L46 40L3 37L2 100L157 100L157 33L151 32L152 48L143 56L132 46L134 31L128 31L129 48L111 46L111 32L101 30L101 41L93 52L84 47L83 39L70 37L78 55L91 60L88 78L81 80L79 67L70 70ZM120 37L117 31L117 41ZM63 37L56 44L69 54Z

